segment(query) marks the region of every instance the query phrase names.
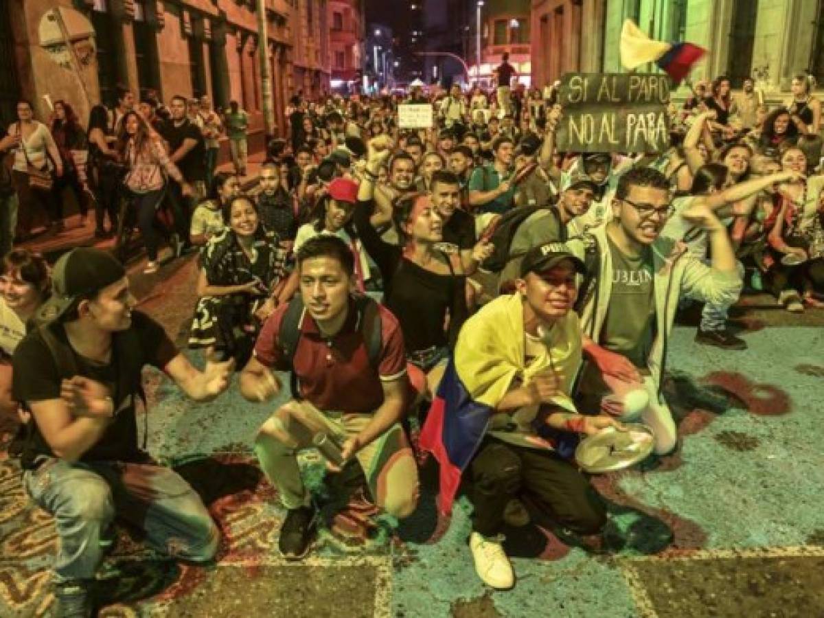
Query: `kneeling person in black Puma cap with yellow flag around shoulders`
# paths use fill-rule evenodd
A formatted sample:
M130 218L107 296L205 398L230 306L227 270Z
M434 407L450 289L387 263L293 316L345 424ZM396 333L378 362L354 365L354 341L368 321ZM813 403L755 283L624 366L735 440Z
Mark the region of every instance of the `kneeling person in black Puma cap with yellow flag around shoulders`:
M609 417L578 414L569 396L582 345L571 309L576 276L584 272L583 261L563 243L535 247L524 257L517 292L481 308L456 344L456 374L471 400L490 414L468 467L474 507L470 548L475 571L493 588L514 584L501 545L510 500L523 497L582 535L597 533L606 523L602 499L568 461L578 433L620 428Z

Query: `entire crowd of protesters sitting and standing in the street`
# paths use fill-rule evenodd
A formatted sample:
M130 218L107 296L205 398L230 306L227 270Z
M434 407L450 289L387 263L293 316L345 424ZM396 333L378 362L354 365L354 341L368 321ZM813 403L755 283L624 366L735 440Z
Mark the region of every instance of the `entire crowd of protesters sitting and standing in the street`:
M288 509L279 548L291 559L307 554L318 517L296 452L321 445L333 472L357 462L375 503L405 517L418 500L410 432L422 425L423 448L447 465L429 405L439 386L461 385L489 412L477 436L461 436L473 453L471 555L485 583L509 588L500 533L520 498L580 536L607 525L569 459L578 436L641 419L655 456L677 449L661 395L677 311L704 303L695 341L734 350L747 342L728 311L745 285L787 311L822 307L821 103L809 77L794 79L792 99L775 109L752 80L735 96L726 77L697 83L681 109L671 105L671 147L641 156L559 152L555 87L511 88L506 58L495 74L491 92L295 97L253 194L238 183L249 119L236 103L221 115L206 97L175 96L166 109L122 91L83 131L63 101L50 126L21 101L0 142L15 153L7 191L18 200L18 236L30 232L35 205L59 227L69 189L82 216L93 209L98 235L137 225L147 274L162 241L176 255L197 248L189 344L209 358L198 372L133 311L123 267L101 251L70 252L51 287L38 256L4 258L0 343L14 362L13 374L8 365L0 374L2 404L22 404L33 499L80 522L59 531L64 606L87 602L101 552L83 548L97 546L129 502L116 499L129 494L124 476L99 463L112 452L106 443L123 447L119 461L134 453L135 466L149 466L134 427L141 363L163 368L194 400L218 396L235 367L255 401L281 391L273 370L290 374L293 399L260 428L255 452ZM403 103L432 104L432 127L402 129ZM224 134L234 175L215 173ZM38 184L33 168L52 182ZM4 233L14 229L3 222ZM24 339L35 313L46 326ZM82 377L54 362L52 336L82 357ZM119 358L124 349L135 359ZM136 373L120 377L126 369ZM318 442L327 434L336 454ZM73 475L77 462L91 463ZM39 485L49 468L65 485ZM211 558L217 530L202 503L176 475L163 483L184 498L160 499L167 514L150 541ZM72 487L86 507L68 499ZM194 523L182 532L185 517Z

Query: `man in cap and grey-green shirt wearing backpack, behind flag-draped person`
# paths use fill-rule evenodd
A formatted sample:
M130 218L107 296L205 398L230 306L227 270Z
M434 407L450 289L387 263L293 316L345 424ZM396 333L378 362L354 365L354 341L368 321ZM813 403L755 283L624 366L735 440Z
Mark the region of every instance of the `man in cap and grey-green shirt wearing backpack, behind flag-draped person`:
M503 285L517 278L524 255L533 247L566 241L567 224L588 211L595 190L595 183L588 176L573 176L571 184L561 192L555 204L538 208L524 219L509 246L509 261L501 271L500 283Z

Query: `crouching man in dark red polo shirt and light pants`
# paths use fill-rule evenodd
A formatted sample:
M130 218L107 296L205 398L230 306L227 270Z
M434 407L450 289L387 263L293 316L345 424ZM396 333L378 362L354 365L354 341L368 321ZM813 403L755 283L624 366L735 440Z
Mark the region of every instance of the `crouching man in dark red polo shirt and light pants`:
M300 330L292 362L284 349L295 334L283 332L289 328L284 325L284 305L260 331L255 355L240 380L246 399L266 401L280 391L271 369L294 372L297 378L293 384L297 383L299 397L275 411L255 439L260 466L288 509L279 538L280 552L287 559L307 554L315 529L317 512L301 479L297 451L311 447L318 433L342 446L344 462L358 460L372 498L387 513L407 517L418 499L418 471L400 426L408 381L404 340L395 316L385 307L373 306L377 319L364 320L367 306L355 302L350 293L352 251L336 236L317 236L301 246L297 273L305 309L292 326ZM377 327L377 320L380 353L370 359L368 322Z

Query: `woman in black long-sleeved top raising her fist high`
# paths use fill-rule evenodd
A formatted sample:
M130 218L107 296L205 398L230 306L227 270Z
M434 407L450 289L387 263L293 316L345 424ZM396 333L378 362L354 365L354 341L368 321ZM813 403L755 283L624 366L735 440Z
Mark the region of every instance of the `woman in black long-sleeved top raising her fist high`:
M466 276L458 252L438 250L443 222L426 194L408 194L398 200L393 219L400 245L391 245L369 222L377 171L388 157L388 138L372 139L363 183L358 192L354 224L363 246L381 270L384 302L400 322L410 363L426 372L434 392L449 350L467 318ZM386 148L375 150L374 144ZM414 376L412 377L413 385ZM420 389L419 389L420 390Z

